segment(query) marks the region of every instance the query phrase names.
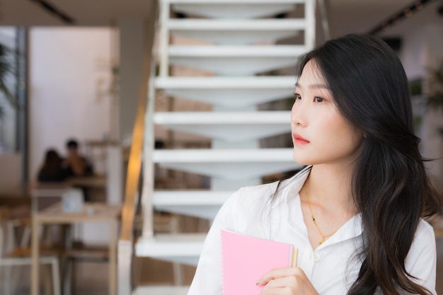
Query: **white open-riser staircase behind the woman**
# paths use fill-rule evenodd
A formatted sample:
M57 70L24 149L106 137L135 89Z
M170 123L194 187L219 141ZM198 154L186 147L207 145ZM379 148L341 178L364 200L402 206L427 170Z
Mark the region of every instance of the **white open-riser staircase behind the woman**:
M152 212L213 219L236 185L300 168L292 148L260 149L259 139L290 132L290 112L258 110L292 96L294 76L267 76L294 66L314 44L314 0L161 0L159 75L156 90L213 106L212 112L146 114L144 149L144 225L135 255L195 265L205 233L154 235ZM301 10L301 18L275 18ZM171 11L171 13L170 13ZM174 12L186 18L173 18ZM277 40L302 34L302 44ZM170 44L171 36L195 39L195 45ZM202 76L171 76L170 66L205 71ZM154 93L154 91L151 91ZM152 113L151 113L152 112ZM153 149L154 125L212 140L212 149ZM197 173L212 179L210 190L154 191L152 166ZM229 185L229 182L234 185ZM227 184L223 187L223 184ZM236 187L239 188L239 187ZM141 287L134 294L185 294L187 287Z

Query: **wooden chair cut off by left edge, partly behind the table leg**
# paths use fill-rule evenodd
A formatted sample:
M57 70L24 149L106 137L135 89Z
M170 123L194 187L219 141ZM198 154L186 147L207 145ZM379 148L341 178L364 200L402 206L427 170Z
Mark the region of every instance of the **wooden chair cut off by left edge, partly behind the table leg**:
M13 294L13 287L15 287L17 280L17 277L13 275L12 267L32 265L30 236L30 219L9 219L8 208L0 207L0 270L6 268L5 295ZM59 260L57 256L42 255L40 264L51 266L52 294L60 295ZM48 294L48 292L46 293Z

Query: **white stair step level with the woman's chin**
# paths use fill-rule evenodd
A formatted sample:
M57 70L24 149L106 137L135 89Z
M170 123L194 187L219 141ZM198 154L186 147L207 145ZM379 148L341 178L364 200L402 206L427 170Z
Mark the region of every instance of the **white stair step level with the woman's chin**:
M156 150L154 163L226 180L249 180L296 170L293 149L174 149Z

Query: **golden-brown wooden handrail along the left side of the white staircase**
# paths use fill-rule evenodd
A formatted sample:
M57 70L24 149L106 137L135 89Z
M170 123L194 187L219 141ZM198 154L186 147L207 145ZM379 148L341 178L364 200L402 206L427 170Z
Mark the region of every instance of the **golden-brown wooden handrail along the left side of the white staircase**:
M136 200L139 195L139 178L142 168L142 148L144 142L144 121L146 106L148 105L149 81L151 80L151 68L154 59L152 49L154 47L154 35L158 18L158 0L151 1L149 16L146 18L145 53L142 68L142 79L137 103L137 114L132 131L132 144L130 148L129 162L127 165L127 177L125 185L125 200L122 207L122 221L120 238L117 243L117 291L118 295L130 295L131 284L131 261L133 248L133 226Z

